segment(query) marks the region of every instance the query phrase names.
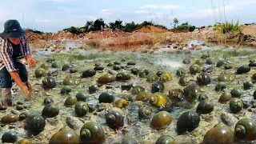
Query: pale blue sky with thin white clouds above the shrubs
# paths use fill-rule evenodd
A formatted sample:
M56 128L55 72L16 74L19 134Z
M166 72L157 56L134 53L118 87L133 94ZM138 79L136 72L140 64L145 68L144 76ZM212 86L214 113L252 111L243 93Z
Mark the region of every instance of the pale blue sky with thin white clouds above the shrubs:
M55 32L86 21L103 18L140 23L153 21L168 28L179 24L209 26L215 22L256 22L256 0L4 0L0 9L0 31L7 19L18 19L23 28Z

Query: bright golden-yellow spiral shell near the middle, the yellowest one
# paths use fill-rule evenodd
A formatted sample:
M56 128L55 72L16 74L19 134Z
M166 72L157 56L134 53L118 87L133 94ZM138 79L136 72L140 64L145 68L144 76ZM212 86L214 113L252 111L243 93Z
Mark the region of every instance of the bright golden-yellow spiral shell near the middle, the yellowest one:
M156 92L151 95L150 103L154 106L166 107L167 102L168 98L166 97L165 94Z

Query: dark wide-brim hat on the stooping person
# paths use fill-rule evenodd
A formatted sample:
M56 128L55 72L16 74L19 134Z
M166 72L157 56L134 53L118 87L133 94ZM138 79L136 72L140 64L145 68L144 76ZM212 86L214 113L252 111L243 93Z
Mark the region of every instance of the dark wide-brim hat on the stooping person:
M25 35L25 30L22 30L22 26L15 19L10 19L5 22L4 30L0 33L0 37L6 38L19 38Z

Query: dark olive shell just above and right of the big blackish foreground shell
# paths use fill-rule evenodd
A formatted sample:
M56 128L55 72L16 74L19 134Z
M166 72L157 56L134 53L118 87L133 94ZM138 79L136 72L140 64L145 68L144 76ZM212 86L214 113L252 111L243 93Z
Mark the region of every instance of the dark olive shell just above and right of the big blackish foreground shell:
M204 100L198 104L197 113L198 114L210 114L214 110L213 102Z

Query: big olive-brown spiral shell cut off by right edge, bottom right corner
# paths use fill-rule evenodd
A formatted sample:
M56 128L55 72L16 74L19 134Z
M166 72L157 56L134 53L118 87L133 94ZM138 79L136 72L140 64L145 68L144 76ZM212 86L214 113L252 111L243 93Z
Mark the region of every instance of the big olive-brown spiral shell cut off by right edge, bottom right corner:
M256 140L256 122L250 118L242 118L234 127L236 138L246 141Z

